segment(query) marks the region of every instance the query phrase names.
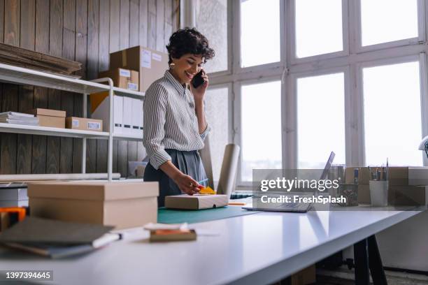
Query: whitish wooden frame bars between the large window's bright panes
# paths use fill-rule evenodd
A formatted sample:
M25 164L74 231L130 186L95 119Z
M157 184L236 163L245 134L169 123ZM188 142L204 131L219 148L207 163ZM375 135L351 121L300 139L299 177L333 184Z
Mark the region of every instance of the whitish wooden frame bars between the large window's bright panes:
M212 87L223 84L231 86L229 89L232 93L230 99L232 115L229 117L233 121L230 128L231 142L238 145L241 143L241 85L269 82L279 78L282 80L281 112L284 114L281 122L283 126L283 168L294 168L297 166L297 130L293 122L297 119L297 110L290 106L297 103L296 78L302 75L315 76L344 72L346 164L347 166L364 166L362 66L380 62L399 63L409 56L418 57L420 60L422 135L428 136L428 63L426 57L426 52L428 52L428 31L426 29L428 6L424 0L418 0L418 38L366 47L361 46L359 0L342 0L343 51L301 59L296 59L295 56L293 58L295 51L294 15L292 13L294 0L280 0L280 61L246 68L241 68L240 65L240 3L241 1L238 0L228 1L230 67L228 71L209 74ZM424 166L428 166L428 159L425 156ZM238 166L236 184L238 190L250 189L250 184L241 181L241 162Z

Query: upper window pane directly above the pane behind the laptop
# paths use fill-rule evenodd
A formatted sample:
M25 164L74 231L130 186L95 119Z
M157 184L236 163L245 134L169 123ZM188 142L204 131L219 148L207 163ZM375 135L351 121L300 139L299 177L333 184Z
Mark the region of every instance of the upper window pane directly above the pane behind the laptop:
M297 57L343 50L342 0L295 0L295 3Z

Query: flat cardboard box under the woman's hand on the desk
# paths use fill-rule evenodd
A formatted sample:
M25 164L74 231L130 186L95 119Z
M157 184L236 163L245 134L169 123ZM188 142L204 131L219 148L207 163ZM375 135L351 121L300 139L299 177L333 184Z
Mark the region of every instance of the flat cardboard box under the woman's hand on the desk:
M213 207L223 207L229 202L227 195L203 195L189 196L173 195L165 197L165 207L171 209L201 210Z

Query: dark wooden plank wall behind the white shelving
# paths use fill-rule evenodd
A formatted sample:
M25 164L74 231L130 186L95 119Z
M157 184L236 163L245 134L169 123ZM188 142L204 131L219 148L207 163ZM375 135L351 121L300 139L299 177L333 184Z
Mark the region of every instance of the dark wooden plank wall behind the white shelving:
M84 79L108 69L108 54L134 45L166 52L177 29L178 0L0 0L0 42L80 61ZM81 116L82 95L33 86L0 84L0 110L65 110ZM0 134L0 174L79 173L78 138ZM113 171L141 160L141 142L115 141ZM87 140L87 173L107 171L106 140Z

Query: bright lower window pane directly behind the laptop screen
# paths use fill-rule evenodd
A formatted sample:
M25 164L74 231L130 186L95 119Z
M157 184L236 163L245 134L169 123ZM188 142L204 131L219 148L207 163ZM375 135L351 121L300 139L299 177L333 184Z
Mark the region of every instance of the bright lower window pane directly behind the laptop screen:
M344 98L343 73L297 80L299 168L324 168L331 151L345 164Z

